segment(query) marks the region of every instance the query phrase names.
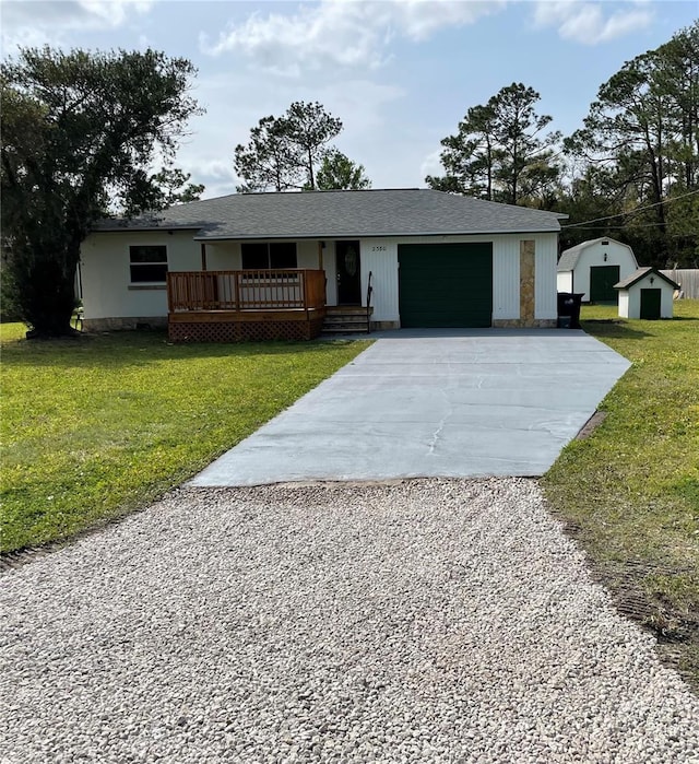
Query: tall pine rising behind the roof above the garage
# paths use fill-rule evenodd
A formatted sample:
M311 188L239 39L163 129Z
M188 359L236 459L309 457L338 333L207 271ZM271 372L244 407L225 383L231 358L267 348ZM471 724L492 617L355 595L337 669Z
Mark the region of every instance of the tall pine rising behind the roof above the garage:
M540 98L513 82L470 108L457 134L441 141L446 175L427 176L427 184L508 204L541 203L560 174L555 158L560 133L544 133L552 117L536 114Z

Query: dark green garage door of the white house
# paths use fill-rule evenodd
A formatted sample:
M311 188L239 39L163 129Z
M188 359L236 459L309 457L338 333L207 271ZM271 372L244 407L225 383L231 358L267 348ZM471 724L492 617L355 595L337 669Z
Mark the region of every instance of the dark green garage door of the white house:
M491 244L400 244L402 327L489 327Z

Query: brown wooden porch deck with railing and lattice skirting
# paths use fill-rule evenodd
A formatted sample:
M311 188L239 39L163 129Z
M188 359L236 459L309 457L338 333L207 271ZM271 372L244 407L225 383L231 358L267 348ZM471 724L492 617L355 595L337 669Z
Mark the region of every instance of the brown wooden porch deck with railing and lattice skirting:
M325 316L325 272L173 271L167 304L173 341L312 339Z

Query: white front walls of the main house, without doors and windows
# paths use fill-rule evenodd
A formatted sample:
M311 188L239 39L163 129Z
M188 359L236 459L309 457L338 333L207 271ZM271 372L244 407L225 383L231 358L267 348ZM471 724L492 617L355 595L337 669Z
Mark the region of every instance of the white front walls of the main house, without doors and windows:
M366 238L360 240L362 299L366 302L367 281L372 273L374 319L400 320L399 244L476 244L493 243L493 318L520 317L520 240L535 240L535 317L556 318L556 234L511 234L497 236L423 236ZM164 289L129 289L129 246L164 244L170 271L200 270L201 243L192 232L100 233L92 234L82 248L82 279L85 318L165 317L167 297ZM318 240L297 243L298 267L318 268ZM322 252L327 275L327 301L336 305L335 243L325 242ZM238 270L240 244L206 244L209 270ZM426 271L429 262L425 262Z

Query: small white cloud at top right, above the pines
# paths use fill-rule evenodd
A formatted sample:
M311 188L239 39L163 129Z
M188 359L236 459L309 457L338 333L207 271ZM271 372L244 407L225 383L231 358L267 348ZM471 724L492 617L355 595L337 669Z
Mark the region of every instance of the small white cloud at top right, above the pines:
M564 39L583 45L608 43L650 26L654 13L647 2L591 3L577 0L540 0L534 10L537 26L555 26Z

